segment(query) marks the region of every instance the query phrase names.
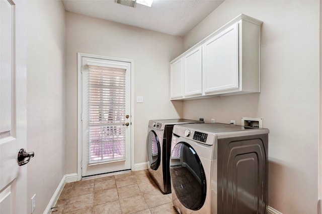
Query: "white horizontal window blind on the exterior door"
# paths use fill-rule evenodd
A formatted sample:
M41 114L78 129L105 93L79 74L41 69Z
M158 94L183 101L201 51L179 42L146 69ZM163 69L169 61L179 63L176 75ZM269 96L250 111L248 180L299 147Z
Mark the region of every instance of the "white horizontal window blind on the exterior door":
M89 164L125 159L125 72L89 65Z

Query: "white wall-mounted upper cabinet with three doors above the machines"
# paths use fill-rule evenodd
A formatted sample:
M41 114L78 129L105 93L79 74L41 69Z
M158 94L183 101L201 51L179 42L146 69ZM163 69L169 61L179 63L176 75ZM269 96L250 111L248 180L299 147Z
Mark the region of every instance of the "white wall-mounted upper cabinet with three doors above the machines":
M259 20L239 15L173 60L171 99L260 92L261 25ZM179 61L182 76L173 74ZM179 90L177 84L183 89L180 96L173 93Z

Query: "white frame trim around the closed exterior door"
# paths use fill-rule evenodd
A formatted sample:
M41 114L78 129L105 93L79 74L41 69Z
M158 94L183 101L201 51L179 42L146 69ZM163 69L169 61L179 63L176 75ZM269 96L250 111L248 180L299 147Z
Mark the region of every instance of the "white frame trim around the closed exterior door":
M96 54L77 53L77 181L82 179L82 57L99 58L103 60L122 61L131 64L131 169L134 169L134 60L107 57Z

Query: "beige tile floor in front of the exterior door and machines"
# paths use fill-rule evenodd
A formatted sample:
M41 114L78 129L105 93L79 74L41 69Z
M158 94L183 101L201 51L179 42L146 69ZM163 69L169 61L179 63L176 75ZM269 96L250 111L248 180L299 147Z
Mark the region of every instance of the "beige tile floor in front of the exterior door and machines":
M147 170L66 183L52 214L176 213Z

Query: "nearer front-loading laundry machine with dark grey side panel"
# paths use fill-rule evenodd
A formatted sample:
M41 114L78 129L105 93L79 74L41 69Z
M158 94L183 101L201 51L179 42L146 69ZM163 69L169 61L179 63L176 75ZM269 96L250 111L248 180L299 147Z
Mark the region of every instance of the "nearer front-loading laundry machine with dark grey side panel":
M175 125L170 174L179 213L265 213L268 129Z

